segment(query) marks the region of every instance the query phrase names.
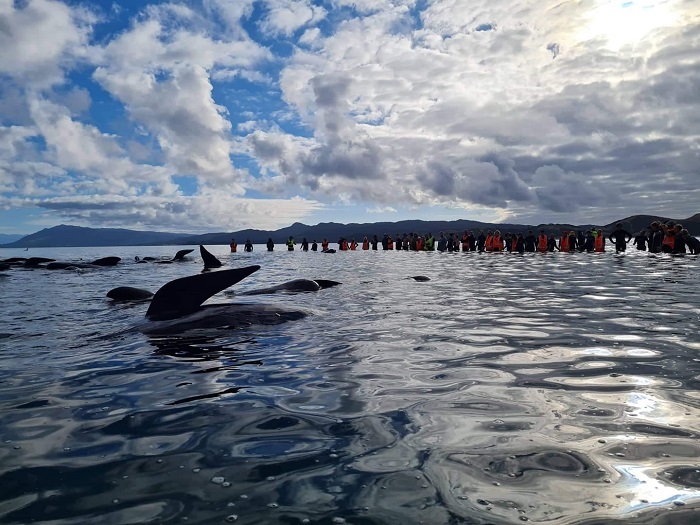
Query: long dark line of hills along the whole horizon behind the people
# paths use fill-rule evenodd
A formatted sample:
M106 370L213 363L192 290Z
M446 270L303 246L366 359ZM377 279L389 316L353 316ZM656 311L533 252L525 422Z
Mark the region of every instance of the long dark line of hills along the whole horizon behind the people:
M545 230L547 234L560 234L562 230L587 230L592 227L601 227L604 232L610 233L615 229L615 224L622 223L623 227L636 234L648 228L653 221L675 220L680 222L691 235L700 235L700 213L688 217L687 219L670 219L657 215L633 215L625 219L613 221L609 224L495 224L478 221L457 220L457 221L399 221L399 222L376 222L365 224L340 224L335 222L325 222L315 226L308 226L300 222L295 222L291 226L275 231L270 230L240 230L237 232L205 233L198 235L188 235L183 233L146 232L114 228L83 228L79 226L60 225L47 228L37 233L27 235L18 241L2 244L2 248L34 248L34 247L60 247L60 246L184 246L184 245L226 245L228 246L231 237L237 239L250 239L254 244L265 244L271 237L275 242L282 243L290 236L295 239L363 239L372 238L376 235L381 239L384 234L393 235L419 233L426 234L432 232L437 235L439 232L458 233L461 235L464 230L493 230L499 229L501 232L513 234L526 234L528 230L539 232Z

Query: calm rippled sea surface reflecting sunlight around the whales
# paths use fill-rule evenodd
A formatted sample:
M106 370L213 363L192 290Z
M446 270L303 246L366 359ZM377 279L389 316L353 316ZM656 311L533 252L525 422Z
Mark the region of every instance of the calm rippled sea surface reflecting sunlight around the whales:
M209 250L343 284L211 302L311 315L158 337L105 294L196 250L0 250L123 258L0 272L0 522L700 523L696 257L281 248Z

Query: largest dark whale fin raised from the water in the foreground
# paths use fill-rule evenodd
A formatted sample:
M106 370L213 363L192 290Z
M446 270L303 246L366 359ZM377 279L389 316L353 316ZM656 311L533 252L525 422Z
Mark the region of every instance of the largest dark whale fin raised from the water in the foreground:
M195 312L212 295L233 286L257 272L260 266L246 266L220 272L182 277L164 284L156 292L148 307L146 317L164 321Z

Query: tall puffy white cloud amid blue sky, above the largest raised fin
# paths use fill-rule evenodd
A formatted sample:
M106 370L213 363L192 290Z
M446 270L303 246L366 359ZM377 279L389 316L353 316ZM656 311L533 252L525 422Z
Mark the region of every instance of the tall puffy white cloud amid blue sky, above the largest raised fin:
M175 29L166 27L168 18L178 22ZM213 99L210 72L253 68L267 51L245 38L214 41L182 26L190 19L196 16L184 7L154 8L107 44L93 77L156 137L174 170L231 181L237 177L229 158L231 123Z

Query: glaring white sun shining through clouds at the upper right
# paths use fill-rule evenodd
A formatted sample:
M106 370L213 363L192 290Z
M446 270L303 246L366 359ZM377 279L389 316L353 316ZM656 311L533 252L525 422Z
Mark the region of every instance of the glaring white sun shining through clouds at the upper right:
M581 40L602 40L613 51L634 47L654 30L674 26L673 0L598 0L587 13Z

